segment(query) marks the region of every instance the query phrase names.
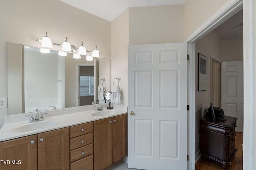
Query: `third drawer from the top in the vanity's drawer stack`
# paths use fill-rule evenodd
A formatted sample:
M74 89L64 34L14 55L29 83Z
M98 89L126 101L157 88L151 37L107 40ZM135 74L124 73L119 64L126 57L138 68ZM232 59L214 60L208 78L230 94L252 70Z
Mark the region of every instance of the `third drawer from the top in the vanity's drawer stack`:
M85 156L88 156L90 154L93 154L92 143L89 145L86 145L84 147L80 147L78 149L74 149L74 150L70 151L70 162L74 162L74 161L81 159Z

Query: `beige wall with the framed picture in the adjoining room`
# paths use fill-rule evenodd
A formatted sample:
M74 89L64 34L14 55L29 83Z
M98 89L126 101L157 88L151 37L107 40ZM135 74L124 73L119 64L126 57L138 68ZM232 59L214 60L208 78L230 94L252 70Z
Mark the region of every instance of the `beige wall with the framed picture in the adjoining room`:
M201 53L207 57L207 90L198 92L198 53ZM197 136L200 130L200 119L203 114L206 113L208 107L210 107L210 61L211 55L214 55L216 59L220 60L220 39L214 31L208 33L202 39L196 42L196 148L195 151L200 150Z

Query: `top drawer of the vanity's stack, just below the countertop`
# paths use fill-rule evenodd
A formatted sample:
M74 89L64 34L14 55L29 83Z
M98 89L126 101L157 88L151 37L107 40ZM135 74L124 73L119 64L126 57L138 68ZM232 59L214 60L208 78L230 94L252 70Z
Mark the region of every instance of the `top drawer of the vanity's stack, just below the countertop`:
M70 127L70 138L92 132L92 122Z

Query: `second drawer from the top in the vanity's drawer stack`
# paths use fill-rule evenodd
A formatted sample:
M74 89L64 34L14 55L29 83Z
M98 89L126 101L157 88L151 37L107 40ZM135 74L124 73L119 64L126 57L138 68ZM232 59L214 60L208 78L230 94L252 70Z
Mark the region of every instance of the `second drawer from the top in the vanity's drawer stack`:
M82 136L70 139L70 150L88 145L93 142L93 133L88 133Z

